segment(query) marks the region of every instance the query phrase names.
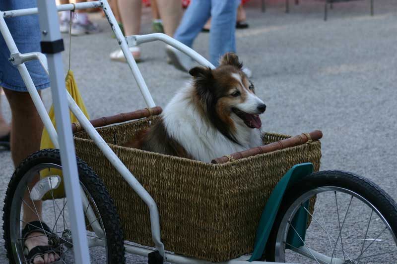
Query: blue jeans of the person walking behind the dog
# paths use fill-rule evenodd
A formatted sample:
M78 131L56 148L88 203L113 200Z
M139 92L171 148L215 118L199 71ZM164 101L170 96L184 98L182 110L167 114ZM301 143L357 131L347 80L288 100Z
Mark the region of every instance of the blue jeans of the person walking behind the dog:
M237 7L241 0L192 0L174 38L192 47L205 22L211 17L209 61L218 66L219 57L236 52Z

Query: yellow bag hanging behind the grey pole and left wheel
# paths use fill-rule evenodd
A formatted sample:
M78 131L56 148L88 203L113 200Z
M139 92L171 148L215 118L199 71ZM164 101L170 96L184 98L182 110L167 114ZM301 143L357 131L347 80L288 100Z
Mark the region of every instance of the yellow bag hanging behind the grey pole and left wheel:
M89 119L87 109L85 108L84 101L81 98L80 92L78 91L76 82L74 81L74 76L73 72L69 70L66 75L66 90L69 92L71 97L73 98L74 102L76 102L77 106L80 107L81 111L84 113L84 115ZM51 121L53 122L53 125L55 129L57 129L55 125L55 113L54 113L54 106L51 106L50 112L48 115L51 118ZM72 123L78 122L77 118L74 116L74 114L70 111L70 121ZM48 132L46 128L43 129L43 134L41 136L41 144L40 144L40 149L54 149L54 145L50 139L50 136L48 135ZM40 171L40 178L43 179L44 177L50 176L50 175L59 175L62 177L62 171L60 169L50 169L50 170L42 170ZM60 184L60 186L53 191L54 198L63 198L64 197L64 184L63 181ZM47 193L44 197L43 200L51 199L51 194Z

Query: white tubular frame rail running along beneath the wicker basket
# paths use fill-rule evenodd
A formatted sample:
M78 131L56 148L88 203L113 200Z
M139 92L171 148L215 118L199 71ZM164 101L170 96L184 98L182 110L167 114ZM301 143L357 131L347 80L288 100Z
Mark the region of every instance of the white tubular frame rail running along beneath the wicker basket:
M147 257L147 255L152 252L153 250L139 247L139 246L133 246L129 244L124 244L124 247L126 248L126 252ZM180 255L175 255L172 253L166 253L165 254L166 261L170 263L175 263L175 264L213 264L213 262L209 261L203 261L203 260L198 260L194 258L188 258ZM253 261L253 262L248 262L251 256L242 256L240 258L230 260L227 262L220 262L217 264L281 264L281 263L276 263L276 262L263 262L263 261Z

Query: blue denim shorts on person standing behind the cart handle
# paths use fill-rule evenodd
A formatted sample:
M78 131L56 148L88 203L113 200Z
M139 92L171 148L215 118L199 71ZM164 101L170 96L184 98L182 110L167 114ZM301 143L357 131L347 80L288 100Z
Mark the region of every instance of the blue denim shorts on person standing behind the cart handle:
M36 7L36 0L0 0L1 11L31 7ZM5 23L19 53L41 52L38 15L5 18ZM10 52L0 34L0 87L17 92L27 92L18 69L8 61L9 57ZM50 86L50 80L38 60L25 62L25 65L36 89L41 90Z

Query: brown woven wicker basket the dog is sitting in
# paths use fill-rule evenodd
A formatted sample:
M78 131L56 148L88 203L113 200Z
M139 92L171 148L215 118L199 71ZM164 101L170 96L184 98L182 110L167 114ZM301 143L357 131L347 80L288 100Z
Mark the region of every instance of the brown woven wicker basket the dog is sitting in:
M297 163L312 162L315 171L320 168L320 141L223 164L119 146L155 119L150 116L98 132L156 201L161 239L165 249L177 254L221 262L252 252L262 210L280 178ZM289 137L265 133L263 142ZM153 246L146 205L85 132L75 133L75 146L109 190L124 238Z

